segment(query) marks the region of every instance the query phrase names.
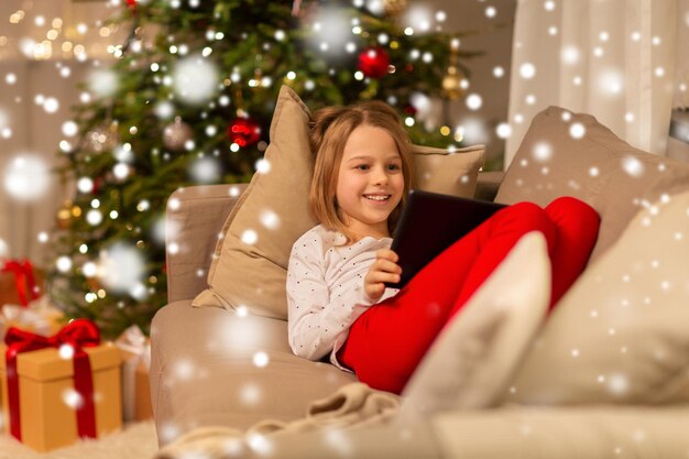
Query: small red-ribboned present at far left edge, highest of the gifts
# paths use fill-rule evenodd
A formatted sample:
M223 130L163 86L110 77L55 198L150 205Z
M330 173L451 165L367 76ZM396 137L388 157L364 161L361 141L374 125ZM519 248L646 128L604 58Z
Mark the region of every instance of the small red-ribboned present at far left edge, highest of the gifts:
M28 306L32 299L41 296L41 278L29 260L0 262L0 306Z

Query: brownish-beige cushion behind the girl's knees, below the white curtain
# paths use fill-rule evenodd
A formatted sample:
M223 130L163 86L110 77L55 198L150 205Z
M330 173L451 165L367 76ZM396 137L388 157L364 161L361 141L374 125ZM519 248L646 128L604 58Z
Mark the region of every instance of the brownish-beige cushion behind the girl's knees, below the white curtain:
M581 127L583 136L571 135ZM689 164L630 146L590 114L549 107L532 121L495 200L542 206L575 196L601 216L591 261L620 236L644 203L687 189Z

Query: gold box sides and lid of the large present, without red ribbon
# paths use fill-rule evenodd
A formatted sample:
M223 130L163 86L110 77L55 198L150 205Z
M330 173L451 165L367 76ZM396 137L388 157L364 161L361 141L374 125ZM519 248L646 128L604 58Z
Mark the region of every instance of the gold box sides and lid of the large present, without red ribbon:
M6 350L7 346L0 346L2 406L9 435ZM110 343L84 350L91 364L96 434L100 437L122 428L121 356ZM17 357L17 372L22 442L44 452L79 440L76 412L64 401L65 393L74 389L73 360L61 358L54 348L22 352Z

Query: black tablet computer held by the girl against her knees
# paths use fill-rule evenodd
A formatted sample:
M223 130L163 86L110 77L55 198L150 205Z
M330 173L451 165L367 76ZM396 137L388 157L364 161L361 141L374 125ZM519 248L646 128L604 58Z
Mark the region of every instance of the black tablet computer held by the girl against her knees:
M391 247L400 256L401 281L386 285L402 288L440 252L504 207L488 200L413 189Z

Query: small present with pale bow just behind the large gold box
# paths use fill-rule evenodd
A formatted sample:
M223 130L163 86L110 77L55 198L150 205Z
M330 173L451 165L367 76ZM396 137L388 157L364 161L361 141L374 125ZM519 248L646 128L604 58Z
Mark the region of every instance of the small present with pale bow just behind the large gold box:
M10 327L21 328L36 335L54 335L63 326L64 313L53 306L46 295L29 303L29 306L6 304L0 306L0 338Z

